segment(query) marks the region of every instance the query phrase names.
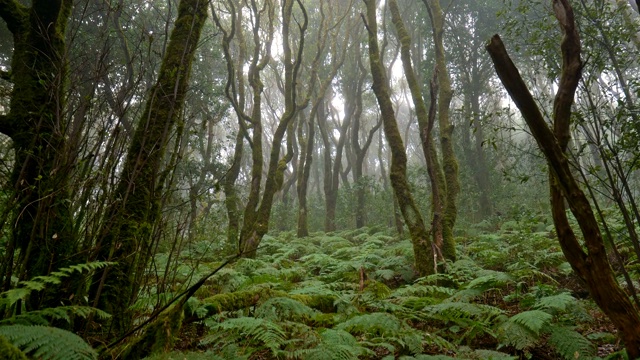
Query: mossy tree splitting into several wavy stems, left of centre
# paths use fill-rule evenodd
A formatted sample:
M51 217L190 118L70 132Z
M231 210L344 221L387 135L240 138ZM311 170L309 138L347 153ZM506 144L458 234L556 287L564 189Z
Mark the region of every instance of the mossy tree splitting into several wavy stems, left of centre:
M232 2L228 1L227 5L231 9L231 29L235 29L236 10ZM243 137L249 143L251 148L251 183L249 196L244 208L244 214L242 218L242 226L240 229L238 239L238 251L243 256L254 257L256 255L256 249L262 240L262 237L269 230L269 220L271 216L271 209L273 206L273 200L277 191L282 188L284 181L284 172L287 164L293 157L293 148L287 149L287 153L284 156L280 156L281 144L285 140L285 135L288 130L291 130L290 125L295 119L298 111L306 106L308 101L298 99L298 87L297 82L300 76L300 68L302 66L302 54L304 50L304 38L307 30L308 18L304 5L301 1L297 0L284 0L280 4L281 16L282 16L282 48L284 64L284 112L280 115L276 129L273 133L271 142L271 151L267 160L267 172L263 174L264 156L263 156L263 124L262 124L262 92L264 90L264 84L260 78L260 72L268 65L270 60L270 47L271 40L274 34L274 22L275 22L275 8L276 5L271 0L266 0L262 7L258 6L256 1L251 1L250 11L252 16L252 34L253 34L253 54L250 59L248 69L248 82L251 87L252 96L252 110L251 114L245 113L244 109L240 106L240 100L238 99L239 92L236 91L236 83L234 80L236 68L242 68L243 64L234 64L233 58L230 53L230 43L233 39L233 30L228 31L224 29L221 22L220 14L214 12L214 18L217 26L224 33L223 49L225 51L225 58L227 61L227 72L229 81L227 82L227 96L231 100L232 106L238 116L240 124L240 131L243 132ZM299 13L295 14L294 20L294 7L299 10ZM260 42L261 37L261 21L262 16L267 15L268 29L266 43ZM298 16L300 18L298 18ZM297 51L294 53L292 49L293 40L291 39L292 22L298 25L298 44ZM264 53L261 54L261 52ZM303 106L304 104L304 106ZM291 137L288 137L289 139ZM238 149L238 141L236 141L236 149ZM293 144L291 144L293 146ZM234 164L236 162L234 158ZM239 159L237 160L239 161ZM262 183L264 175L264 185Z

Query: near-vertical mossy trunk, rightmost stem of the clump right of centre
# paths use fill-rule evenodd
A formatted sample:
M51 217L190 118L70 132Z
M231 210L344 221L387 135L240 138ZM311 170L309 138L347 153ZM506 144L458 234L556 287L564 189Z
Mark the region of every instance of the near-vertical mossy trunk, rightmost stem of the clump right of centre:
M433 29L433 42L436 53L436 72L438 78L438 126L440 127L440 150L442 151L442 170L445 187L443 194L442 217L442 254L446 259L455 261L456 244L453 227L458 217L457 199L460 193L458 179L458 160L453 150L453 124L449 119L449 105L453 97L451 80L447 71L442 35L444 33L444 13L439 0L422 0L427 7Z

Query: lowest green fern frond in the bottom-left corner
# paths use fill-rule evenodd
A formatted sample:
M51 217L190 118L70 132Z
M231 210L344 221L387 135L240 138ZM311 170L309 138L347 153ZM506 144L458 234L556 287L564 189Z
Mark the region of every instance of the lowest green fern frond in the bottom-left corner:
M97 359L98 354L78 335L47 326L0 326L5 337L25 354L43 360Z

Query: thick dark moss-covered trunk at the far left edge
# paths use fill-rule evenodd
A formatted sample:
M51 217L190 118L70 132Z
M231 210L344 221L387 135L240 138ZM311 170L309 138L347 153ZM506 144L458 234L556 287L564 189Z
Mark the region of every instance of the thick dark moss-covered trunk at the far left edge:
M18 269L13 252L4 260L4 286L11 276L27 279L80 261L76 254L69 179L73 156L67 132L65 88L65 29L70 0L34 0L31 7L0 0L0 16L13 34L14 51L9 81L13 84L9 112L0 115L0 132L13 141L15 162L12 245L19 249ZM70 289L56 289L32 298L33 308L59 305ZM41 304L41 301L44 303Z

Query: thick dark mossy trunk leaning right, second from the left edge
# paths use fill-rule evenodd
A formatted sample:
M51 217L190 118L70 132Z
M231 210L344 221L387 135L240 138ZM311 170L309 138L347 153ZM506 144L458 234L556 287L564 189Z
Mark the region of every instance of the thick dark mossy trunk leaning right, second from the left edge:
M160 218L160 173L171 134L187 93L191 63L207 18L207 2L181 0L158 80L151 88L98 239L98 260L118 264L98 274L91 289L94 305L113 314L112 330L131 325L128 307L135 300L150 256L150 241Z

